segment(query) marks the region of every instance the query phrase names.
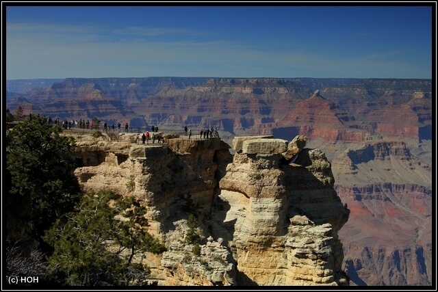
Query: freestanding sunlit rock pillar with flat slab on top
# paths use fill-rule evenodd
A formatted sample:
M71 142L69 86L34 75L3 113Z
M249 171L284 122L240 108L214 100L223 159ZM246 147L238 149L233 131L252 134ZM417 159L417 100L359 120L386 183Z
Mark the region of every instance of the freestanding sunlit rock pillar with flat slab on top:
M263 152L270 141L273 152L278 146L252 141ZM284 161L279 153L234 155L219 182L213 215L223 219L214 235L229 241L244 274L237 280L246 284L346 284L337 232L349 211L333 190L330 163L306 148L294 163Z

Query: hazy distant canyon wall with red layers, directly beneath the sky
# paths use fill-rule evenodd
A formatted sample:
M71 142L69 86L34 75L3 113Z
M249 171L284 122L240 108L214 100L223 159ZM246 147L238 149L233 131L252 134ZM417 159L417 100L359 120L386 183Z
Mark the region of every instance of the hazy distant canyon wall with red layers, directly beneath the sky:
M14 86L13 86L14 85ZM9 81L10 89L18 89ZM431 81L410 79L65 79L7 105L52 118L91 120L181 131L218 128L233 135L295 133L326 140L430 138Z

